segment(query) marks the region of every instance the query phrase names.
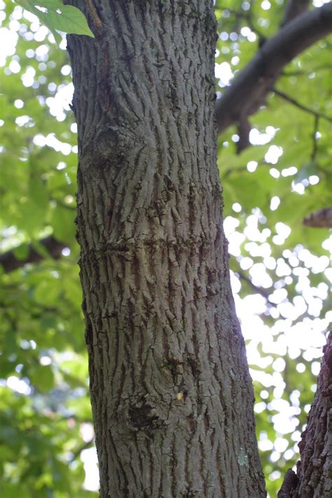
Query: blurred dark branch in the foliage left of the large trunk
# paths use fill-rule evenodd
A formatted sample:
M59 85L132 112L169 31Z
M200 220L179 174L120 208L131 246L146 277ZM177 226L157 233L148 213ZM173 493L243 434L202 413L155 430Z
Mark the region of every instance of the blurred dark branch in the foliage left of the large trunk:
M39 244L43 245L43 248L47 250L50 257L53 257L54 260L59 259L62 255L62 250L67 247L66 244L57 241L53 236L42 238ZM27 257L21 260L15 256L15 249L8 250L7 253L0 255L0 265L6 273L9 273L23 267L27 263L38 263L43 259L44 255L39 253L32 244L29 244L27 246Z

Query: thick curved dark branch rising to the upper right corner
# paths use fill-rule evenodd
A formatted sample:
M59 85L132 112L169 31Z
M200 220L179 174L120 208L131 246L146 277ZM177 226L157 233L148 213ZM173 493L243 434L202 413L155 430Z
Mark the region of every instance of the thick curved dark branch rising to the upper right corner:
M266 41L217 100L219 133L254 114L263 105L284 66L331 31L332 3L329 3L298 15Z

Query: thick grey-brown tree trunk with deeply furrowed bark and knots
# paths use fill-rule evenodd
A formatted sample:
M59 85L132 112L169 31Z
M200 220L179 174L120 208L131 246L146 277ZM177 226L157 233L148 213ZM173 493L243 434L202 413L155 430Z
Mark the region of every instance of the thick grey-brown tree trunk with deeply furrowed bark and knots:
M264 497L216 167L212 0L73 1L100 496Z

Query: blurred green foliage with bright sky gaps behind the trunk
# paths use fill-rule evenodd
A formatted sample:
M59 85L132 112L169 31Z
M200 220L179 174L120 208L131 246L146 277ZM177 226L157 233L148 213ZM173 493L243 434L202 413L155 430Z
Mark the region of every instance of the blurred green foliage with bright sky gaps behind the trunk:
M33 5L52 11L55 1ZM34 15L11 1L0 8L2 251L16 248L24 259L27 243L43 251L38 241L48 234L67 245L61 260L44 250L40 264L1 274L0 487L6 498L84 497L94 493L82 488L80 459L92 443L84 432L91 415L74 237L71 69L65 43L56 46ZM216 1L218 91L254 55L259 37L277 30L283 8L281 1ZM251 147L236 154L235 127L219 140L230 264L271 496L296 462L331 318L328 231L301 223L331 198L330 45L322 40L293 60L276 84L312 112L272 93L251 118Z

